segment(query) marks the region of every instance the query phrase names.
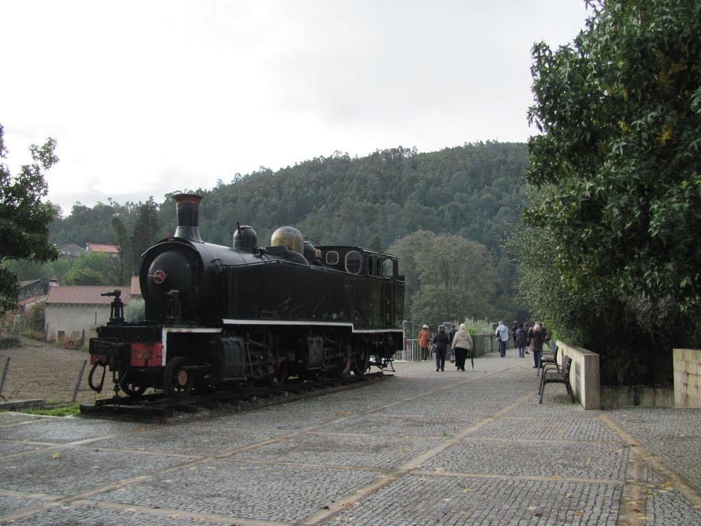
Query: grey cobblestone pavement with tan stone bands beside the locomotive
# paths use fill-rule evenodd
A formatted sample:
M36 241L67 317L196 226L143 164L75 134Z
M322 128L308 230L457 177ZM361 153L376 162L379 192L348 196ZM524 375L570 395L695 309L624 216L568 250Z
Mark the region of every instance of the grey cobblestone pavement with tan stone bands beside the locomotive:
M701 524L701 411L539 405L513 356L395 368L168 424L0 414L0 524Z

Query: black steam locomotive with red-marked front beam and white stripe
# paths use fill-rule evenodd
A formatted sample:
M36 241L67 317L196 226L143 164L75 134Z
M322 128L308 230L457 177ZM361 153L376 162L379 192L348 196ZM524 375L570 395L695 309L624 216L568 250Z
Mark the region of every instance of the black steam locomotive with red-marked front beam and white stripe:
M403 345L404 276L397 258L353 246L313 246L297 229L260 248L237 223L233 247L205 243L202 196L173 196L177 230L142 255L146 320L125 322L118 295L90 339L89 384L115 396L169 396L288 377L364 375Z

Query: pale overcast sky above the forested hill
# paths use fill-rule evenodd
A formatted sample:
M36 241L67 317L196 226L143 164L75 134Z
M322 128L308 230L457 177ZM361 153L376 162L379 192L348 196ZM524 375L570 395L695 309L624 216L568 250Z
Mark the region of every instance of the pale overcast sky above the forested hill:
M590 13L590 12L589 12ZM64 213L334 151L525 142L531 46L584 0L0 0L13 174L58 142Z

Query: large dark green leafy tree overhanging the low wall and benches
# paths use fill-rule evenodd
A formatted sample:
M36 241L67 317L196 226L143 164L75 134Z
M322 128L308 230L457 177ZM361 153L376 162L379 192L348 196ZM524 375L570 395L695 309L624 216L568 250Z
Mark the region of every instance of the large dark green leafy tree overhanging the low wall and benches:
M573 46L533 47L524 222L566 290L655 312L654 332L701 307L701 4L588 4Z

